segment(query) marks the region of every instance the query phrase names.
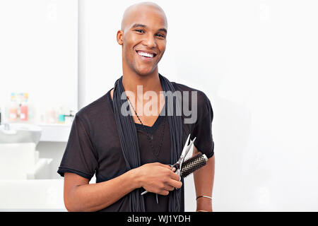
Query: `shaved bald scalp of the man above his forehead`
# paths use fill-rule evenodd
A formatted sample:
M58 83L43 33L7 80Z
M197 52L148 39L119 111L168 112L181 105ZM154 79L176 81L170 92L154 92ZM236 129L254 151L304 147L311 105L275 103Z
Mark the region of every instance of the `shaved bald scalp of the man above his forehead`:
M141 2L126 8L122 17L122 30L126 30L127 26L129 26L131 21L134 20L134 16L141 11L153 11L158 13L158 15L162 16L163 20L165 20L165 25L167 26L167 17L165 16L163 8L153 2Z

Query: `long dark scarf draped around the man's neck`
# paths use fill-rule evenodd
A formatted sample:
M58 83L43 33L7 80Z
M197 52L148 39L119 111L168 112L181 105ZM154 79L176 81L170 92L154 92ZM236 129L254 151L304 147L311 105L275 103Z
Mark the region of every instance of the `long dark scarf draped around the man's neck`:
M164 76L161 76L159 73L160 83L163 87L164 94L167 91L175 92L175 88L172 86L172 83L167 80ZM122 145L122 153L124 155L124 160L126 162L126 169L129 171L130 169L134 169L136 167L141 166L140 154L139 154L139 144L138 137L136 131L136 125L134 123L134 119L129 114L128 116L123 116L121 114L121 107L124 105L126 100L126 94L123 94L124 100L121 100L122 93L124 93L124 87L122 85L122 77L120 77L116 83L114 84L114 95L113 95L113 105L114 105L114 116L117 124L117 130L119 133L120 143ZM169 103L168 103L169 101ZM129 105L128 105L129 106ZM165 114L169 113L167 107L170 106L169 112L171 112L171 106L175 109L174 112L179 112L182 105L179 98L174 97L173 100L171 98L167 98L165 94ZM130 110L130 107L129 107ZM168 122L170 125L170 134L171 134L171 162L170 164L174 164L179 159L179 156L182 152L182 117L170 113L165 117L168 117ZM182 179L183 182L183 179ZM144 189L135 189L129 193L129 203L130 203L130 211L131 212L144 212L145 211L145 203L143 200L143 196L141 196L141 192ZM182 210L181 207L181 189L175 189L169 192L169 212L179 212Z

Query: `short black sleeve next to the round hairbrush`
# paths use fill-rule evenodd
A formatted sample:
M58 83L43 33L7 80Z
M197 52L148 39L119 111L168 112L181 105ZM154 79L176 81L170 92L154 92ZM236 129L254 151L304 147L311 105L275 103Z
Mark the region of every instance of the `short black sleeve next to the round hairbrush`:
M210 100L204 95L204 107L199 112L199 118L192 129L192 139L196 137L194 145L206 157L214 154L214 142L212 136L213 109Z

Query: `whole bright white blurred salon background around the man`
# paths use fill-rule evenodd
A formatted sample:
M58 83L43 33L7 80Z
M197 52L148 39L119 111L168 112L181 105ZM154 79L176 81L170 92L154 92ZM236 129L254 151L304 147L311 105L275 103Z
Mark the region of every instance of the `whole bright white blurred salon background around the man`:
M0 0L0 211L66 211L73 117L122 76L116 33L137 2ZM318 211L317 1L154 2L160 73L213 107L213 210ZM195 211L192 176L184 186Z

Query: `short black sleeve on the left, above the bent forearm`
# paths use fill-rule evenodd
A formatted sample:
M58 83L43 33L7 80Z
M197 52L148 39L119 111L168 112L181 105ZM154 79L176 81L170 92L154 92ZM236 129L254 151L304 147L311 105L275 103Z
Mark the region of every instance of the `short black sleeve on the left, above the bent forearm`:
M97 156L93 148L88 129L76 114L71 126L69 141L57 172L64 177L65 172L78 174L86 179L91 179L98 167Z

